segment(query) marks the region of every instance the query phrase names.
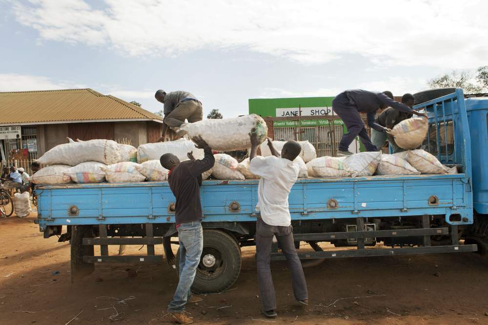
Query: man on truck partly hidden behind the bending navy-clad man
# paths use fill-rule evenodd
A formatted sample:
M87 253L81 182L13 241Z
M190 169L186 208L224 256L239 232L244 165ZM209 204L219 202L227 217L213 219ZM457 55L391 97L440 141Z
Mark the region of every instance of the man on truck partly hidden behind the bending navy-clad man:
M413 97L412 94L405 94L402 96L402 103L412 108L413 104L415 103L415 97ZM386 131L391 130L395 125L403 120L411 118L412 116L412 113L402 112L393 109L392 107L386 108L378 115L375 121L376 124L384 128L384 131L378 131L377 129L371 128L371 142L373 142L373 144L381 150L381 148L383 148L385 145L386 140L388 140L388 143L393 147L393 153L404 151L404 149L400 148L396 144L393 136L388 134Z

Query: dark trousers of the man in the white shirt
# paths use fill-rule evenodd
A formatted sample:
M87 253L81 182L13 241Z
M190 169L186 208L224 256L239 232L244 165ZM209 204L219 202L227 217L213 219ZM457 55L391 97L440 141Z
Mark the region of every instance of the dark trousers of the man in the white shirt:
M276 293L269 265L273 236L276 236L288 262L295 299L308 299L304 270L293 241L293 227L272 226L260 218L256 223L256 264L261 302L266 311L276 309Z

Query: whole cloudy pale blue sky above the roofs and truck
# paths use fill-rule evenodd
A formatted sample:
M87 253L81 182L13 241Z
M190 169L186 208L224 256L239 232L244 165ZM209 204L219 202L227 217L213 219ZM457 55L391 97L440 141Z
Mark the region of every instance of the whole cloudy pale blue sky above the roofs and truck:
M247 99L426 88L488 64L488 1L0 0L0 91L89 87L149 111L187 90Z

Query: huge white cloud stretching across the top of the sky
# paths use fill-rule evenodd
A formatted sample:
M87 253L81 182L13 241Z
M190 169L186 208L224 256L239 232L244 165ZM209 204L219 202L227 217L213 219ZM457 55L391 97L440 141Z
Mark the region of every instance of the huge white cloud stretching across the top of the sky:
M83 0L16 4L45 40L110 46L125 55L176 56L244 48L306 64L361 54L377 65L473 68L488 57L488 1Z

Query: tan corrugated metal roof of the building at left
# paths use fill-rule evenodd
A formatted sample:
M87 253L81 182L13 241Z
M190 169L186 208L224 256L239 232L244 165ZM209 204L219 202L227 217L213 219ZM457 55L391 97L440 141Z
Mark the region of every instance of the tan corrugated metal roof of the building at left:
M0 124L158 120L141 107L92 89L0 92Z

